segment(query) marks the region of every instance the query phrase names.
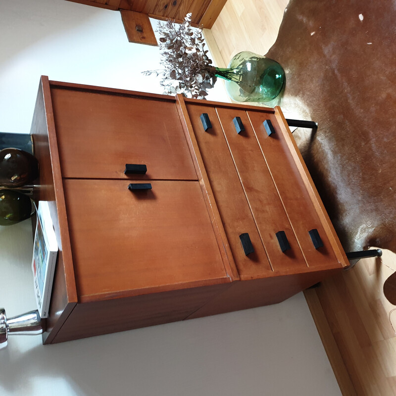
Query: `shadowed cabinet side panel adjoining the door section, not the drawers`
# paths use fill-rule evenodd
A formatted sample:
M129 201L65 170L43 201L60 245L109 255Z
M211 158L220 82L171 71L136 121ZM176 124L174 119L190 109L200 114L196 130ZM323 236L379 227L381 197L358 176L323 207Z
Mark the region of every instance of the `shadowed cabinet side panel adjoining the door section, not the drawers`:
M185 319L230 284L78 304L53 343Z

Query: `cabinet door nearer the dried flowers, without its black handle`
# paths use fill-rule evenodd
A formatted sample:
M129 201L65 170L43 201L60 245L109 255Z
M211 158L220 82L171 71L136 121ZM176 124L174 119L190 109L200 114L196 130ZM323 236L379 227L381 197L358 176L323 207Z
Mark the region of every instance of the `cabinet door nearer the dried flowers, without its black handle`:
M51 90L62 176L197 180L174 101ZM124 175L125 164L146 175Z

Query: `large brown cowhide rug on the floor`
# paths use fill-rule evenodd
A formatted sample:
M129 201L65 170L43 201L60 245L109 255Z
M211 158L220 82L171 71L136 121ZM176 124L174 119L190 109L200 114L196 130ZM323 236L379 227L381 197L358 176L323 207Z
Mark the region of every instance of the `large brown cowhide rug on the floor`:
M346 251L396 252L396 1L291 0L266 54L281 106Z

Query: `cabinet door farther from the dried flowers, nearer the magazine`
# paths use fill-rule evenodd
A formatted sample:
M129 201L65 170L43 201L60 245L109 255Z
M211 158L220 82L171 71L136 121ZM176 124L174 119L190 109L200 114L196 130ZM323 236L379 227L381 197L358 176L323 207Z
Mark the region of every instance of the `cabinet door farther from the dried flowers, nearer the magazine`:
M227 282L199 183L150 183L63 181L79 298Z

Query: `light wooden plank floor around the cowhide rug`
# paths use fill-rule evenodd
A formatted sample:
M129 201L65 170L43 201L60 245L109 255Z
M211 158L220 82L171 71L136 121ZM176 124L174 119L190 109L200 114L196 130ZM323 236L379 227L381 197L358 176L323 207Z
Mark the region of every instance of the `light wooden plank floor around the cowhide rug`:
M276 40L287 0L228 0L204 32L215 64L243 50L265 54ZM306 291L343 395L396 395L396 306L383 294L396 255L363 259Z

